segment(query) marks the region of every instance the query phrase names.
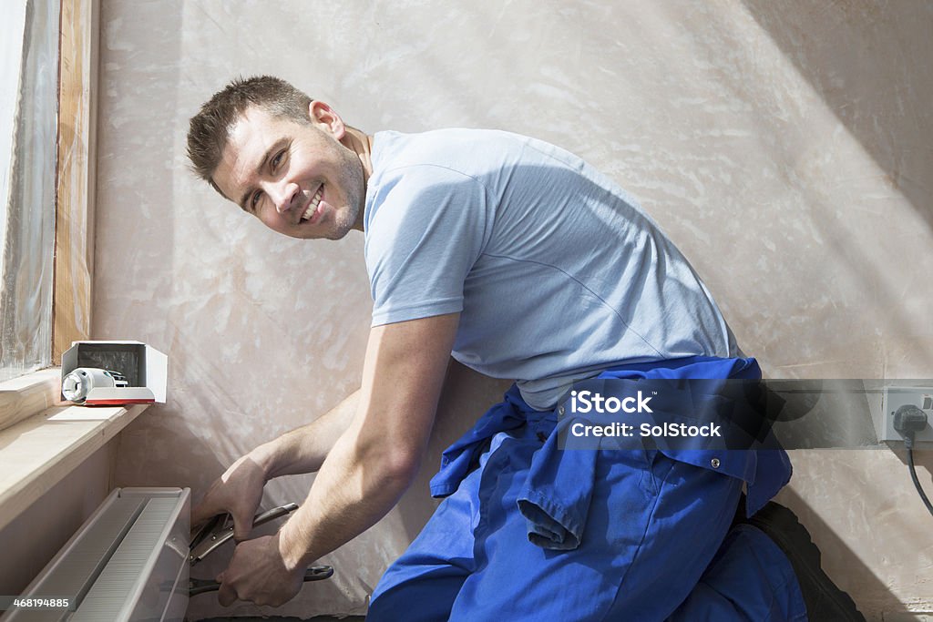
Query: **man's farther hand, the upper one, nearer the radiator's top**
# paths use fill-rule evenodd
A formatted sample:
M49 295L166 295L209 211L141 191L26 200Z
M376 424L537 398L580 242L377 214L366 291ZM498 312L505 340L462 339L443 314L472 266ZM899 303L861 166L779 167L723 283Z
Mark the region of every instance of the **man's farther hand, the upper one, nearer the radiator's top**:
M233 538L244 541L253 529L253 517L265 485L266 472L252 457L245 455L232 463L191 510L192 530L217 514L229 512L233 518Z

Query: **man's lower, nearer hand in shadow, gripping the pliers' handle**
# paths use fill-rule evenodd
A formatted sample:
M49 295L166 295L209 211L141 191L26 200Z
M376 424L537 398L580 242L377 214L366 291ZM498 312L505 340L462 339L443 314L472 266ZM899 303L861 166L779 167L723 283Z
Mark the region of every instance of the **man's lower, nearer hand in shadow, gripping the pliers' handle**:
M287 568L280 548L278 534L237 545L230 566L217 576L217 601L225 607L237 600L276 607L295 598L306 569Z

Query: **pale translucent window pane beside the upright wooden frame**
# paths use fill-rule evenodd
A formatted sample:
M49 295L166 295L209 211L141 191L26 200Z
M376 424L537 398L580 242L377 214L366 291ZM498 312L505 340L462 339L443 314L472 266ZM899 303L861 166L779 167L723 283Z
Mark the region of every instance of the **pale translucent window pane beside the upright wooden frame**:
M18 89L11 108L0 107L0 114L13 116L0 125L8 129L0 145L9 146L0 159L0 165L8 162L0 195L0 380L51 361L60 7L58 0L20 1L12 12L21 19L11 20L3 34L13 37L5 48L14 51L12 74L4 77L18 81Z

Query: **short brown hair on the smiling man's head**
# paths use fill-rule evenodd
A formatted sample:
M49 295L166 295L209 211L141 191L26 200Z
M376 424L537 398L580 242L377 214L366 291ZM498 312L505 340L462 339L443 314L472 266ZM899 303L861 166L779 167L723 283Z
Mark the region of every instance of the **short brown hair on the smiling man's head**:
M233 80L191 117L188 126L191 169L220 192L212 175L223 156L230 130L246 110L255 106L273 117L311 123L309 104L310 97L278 77L253 76Z

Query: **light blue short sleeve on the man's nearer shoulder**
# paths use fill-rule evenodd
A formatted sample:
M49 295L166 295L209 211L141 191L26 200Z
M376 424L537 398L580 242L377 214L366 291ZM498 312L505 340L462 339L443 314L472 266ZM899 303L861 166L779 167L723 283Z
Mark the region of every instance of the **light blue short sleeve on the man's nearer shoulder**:
M399 168L383 173L369 209L372 325L463 311L492 222L480 181L435 165Z

